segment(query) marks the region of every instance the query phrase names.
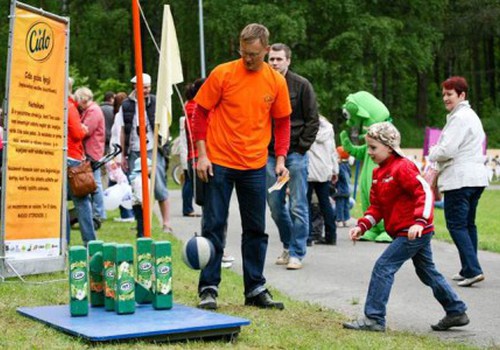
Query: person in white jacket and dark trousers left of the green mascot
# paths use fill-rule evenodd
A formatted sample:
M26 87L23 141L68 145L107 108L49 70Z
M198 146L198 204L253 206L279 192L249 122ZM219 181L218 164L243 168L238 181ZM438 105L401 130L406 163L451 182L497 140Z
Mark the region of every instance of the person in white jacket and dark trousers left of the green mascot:
M337 244L337 225L335 212L330 203L330 183L337 182L339 164L335 148L333 125L322 115L319 116L319 129L316 140L307 151L309 166L307 168L307 200L309 202L309 231L312 231L311 198L312 191L318 197L319 209L325 219L325 239L318 244Z

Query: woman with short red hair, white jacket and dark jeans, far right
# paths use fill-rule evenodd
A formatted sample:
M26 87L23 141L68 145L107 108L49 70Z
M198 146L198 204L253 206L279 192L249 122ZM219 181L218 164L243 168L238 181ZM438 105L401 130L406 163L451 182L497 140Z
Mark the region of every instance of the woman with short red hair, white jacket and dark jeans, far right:
M488 186L483 155L485 133L467 100L463 77L448 78L442 84L443 102L449 114L429 160L437 163L438 187L444 193L446 227L457 246L461 269L452 279L461 287L484 280L477 257L476 208Z

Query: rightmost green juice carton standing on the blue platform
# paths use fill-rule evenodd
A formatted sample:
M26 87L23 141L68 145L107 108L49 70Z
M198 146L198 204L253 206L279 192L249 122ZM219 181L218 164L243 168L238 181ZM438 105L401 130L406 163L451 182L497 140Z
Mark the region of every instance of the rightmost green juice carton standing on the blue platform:
M154 283L153 307L171 309L172 296L172 245L168 241L153 242Z

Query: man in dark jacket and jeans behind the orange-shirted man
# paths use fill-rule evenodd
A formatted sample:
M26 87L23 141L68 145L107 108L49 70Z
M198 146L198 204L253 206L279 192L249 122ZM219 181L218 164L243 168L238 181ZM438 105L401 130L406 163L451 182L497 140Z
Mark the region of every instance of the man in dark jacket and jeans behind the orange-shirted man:
M290 117L290 149L285 166L290 171L287 186L268 194L267 202L271 215L278 226L283 253L276 264L286 265L288 270L302 268L302 259L306 255L307 237L309 236L309 204L307 201L307 150L316 138L319 127L316 95L311 83L304 77L288 69L291 62L291 50L285 44L273 44L269 52L271 66L285 76L292 104ZM269 145L267 162L267 187L277 180L274 171L274 140ZM289 189L289 206L286 201Z

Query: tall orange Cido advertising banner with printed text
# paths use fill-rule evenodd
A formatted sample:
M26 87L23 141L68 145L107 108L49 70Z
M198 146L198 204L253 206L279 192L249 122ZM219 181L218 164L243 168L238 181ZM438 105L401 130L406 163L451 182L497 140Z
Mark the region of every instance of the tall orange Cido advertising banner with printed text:
M20 3L12 11L3 163L4 256L60 256L68 21Z

